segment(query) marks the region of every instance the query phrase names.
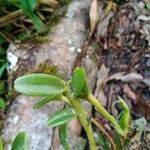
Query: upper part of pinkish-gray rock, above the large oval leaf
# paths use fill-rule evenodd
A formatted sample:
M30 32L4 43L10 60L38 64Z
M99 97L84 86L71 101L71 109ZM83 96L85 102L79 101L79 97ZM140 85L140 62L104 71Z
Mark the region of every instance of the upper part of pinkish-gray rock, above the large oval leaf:
M90 0L74 0L68 8L66 17L49 35L50 42L42 45L26 45L26 48L21 50L11 45L8 49L8 60L12 64L11 71L22 68L23 72L27 72L29 68L34 69L35 66L48 60L51 64L57 65L60 70L63 70L68 77L78 55L76 50L86 40L87 22L85 21L88 17L89 6ZM11 58L15 58L15 60Z

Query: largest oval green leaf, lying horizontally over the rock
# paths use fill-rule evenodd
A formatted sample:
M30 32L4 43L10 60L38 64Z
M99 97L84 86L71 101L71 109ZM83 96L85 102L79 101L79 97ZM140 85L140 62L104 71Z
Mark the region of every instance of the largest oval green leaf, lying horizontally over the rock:
M65 89L63 80L47 74L30 74L15 80L16 91L31 96L51 96L62 94Z

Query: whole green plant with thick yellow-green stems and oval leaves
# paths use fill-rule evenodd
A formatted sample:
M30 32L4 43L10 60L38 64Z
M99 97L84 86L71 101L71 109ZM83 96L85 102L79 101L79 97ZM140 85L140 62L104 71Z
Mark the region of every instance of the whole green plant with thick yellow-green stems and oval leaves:
M130 128L130 111L127 104L119 97L119 102L122 105L123 111L118 119L114 118L91 93L84 68L76 67L73 71L71 80L67 82L56 76L47 74L25 75L16 79L14 88L16 91L23 94L42 97L42 99L33 106L34 109L38 109L53 100L64 101L70 106L69 108L55 112L48 119L49 126L59 126L60 141L65 150L69 150L66 130L67 122L75 117L79 119L87 134L91 150L96 150L92 123L95 124L108 139L112 149L118 149L120 143L126 142ZM81 99L85 99L91 103L95 110L110 123L115 129L115 135L119 137L117 139L123 139L121 142L117 142L118 140L116 141L116 138L113 139L108 132L105 131L103 126L84 110L80 103Z

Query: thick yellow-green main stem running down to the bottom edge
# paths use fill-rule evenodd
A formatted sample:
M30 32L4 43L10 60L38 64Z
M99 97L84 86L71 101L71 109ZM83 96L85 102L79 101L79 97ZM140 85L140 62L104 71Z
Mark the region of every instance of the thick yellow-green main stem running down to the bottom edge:
M94 140L94 134L93 134L93 130L92 130L92 126L91 126L91 122L90 120L88 121L87 118L87 112L84 111L82 105L80 104L79 99L74 99L74 98L68 98L71 102L72 107L75 109L78 118L80 120L81 125L83 126L88 140L89 140L89 146L90 146L90 150L96 150L96 144L95 144L95 140Z

